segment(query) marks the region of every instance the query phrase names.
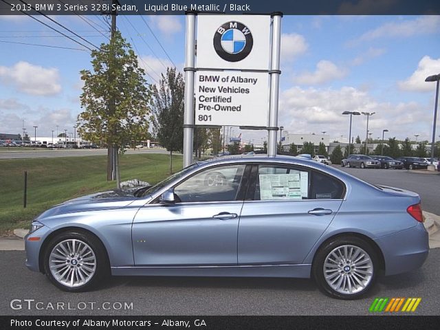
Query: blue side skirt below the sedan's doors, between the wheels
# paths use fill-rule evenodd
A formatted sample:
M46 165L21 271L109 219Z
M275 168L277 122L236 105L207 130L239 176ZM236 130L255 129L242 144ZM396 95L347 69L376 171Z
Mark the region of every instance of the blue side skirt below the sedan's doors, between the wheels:
M311 265L111 267L114 276L217 276L310 278Z

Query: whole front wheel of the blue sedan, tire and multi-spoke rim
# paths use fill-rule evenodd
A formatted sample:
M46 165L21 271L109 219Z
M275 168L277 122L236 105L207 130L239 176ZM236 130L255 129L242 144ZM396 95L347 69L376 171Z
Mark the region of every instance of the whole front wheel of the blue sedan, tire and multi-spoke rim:
M47 278L68 292L96 287L109 269L104 246L86 232L63 232L55 236L45 249L44 267Z

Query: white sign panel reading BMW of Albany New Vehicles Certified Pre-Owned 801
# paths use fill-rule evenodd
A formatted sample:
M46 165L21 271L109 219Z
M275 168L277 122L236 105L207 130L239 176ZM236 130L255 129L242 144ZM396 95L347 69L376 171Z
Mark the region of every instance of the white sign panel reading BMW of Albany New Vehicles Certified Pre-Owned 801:
M195 124L267 126L269 74L199 71Z

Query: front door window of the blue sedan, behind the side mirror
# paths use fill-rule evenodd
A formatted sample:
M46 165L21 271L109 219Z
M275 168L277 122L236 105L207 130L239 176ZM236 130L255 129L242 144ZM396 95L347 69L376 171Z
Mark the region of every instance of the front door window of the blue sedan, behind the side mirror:
M183 203L201 201L234 201L239 192L245 165L208 168L174 188Z

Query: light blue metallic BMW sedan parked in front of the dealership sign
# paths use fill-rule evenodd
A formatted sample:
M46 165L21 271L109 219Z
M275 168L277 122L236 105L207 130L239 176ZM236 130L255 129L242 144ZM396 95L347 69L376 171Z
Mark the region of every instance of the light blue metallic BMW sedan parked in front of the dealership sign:
M335 298L428 255L419 195L300 157L197 162L131 194L61 203L32 222L26 265L84 291L103 276L314 278Z

